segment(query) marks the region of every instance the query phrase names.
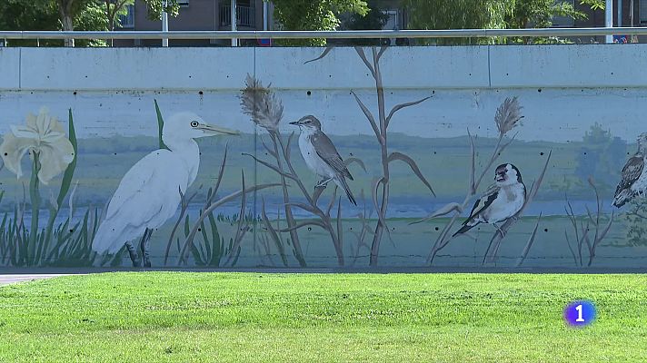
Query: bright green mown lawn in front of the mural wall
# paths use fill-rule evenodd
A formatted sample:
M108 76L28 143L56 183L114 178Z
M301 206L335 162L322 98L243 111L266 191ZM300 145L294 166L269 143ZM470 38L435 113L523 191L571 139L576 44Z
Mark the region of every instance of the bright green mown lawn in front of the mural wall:
M647 276L106 273L0 288L0 362L644 362ZM598 318L567 328L591 299Z

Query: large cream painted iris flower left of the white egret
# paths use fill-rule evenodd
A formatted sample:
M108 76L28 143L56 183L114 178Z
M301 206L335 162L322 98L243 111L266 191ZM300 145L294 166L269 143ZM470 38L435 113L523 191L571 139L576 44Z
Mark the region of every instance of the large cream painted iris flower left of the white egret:
M65 171L75 157L75 150L63 127L46 107L41 108L38 115L29 113L26 125L12 125L11 132L5 134L0 145L0 155L6 168L18 178L23 176L21 161L26 152L29 152L32 161L34 154L37 154L40 164L38 180L44 184Z

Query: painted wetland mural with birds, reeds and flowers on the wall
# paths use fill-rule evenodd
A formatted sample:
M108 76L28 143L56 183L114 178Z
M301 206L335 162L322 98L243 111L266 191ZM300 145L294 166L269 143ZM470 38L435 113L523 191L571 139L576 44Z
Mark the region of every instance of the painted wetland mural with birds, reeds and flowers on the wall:
M112 133L46 98L1 120L0 266L645 266L647 129L540 134L536 94L390 89L389 48L354 50L372 90L304 98L247 74L194 108L113 96L141 120L113 105ZM459 130L450 108L479 122Z

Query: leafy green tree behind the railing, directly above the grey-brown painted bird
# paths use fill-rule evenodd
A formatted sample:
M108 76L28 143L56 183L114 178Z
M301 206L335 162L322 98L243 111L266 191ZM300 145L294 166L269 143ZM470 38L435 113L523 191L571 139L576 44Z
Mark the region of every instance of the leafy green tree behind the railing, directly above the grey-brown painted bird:
M339 15L366 15L364 0L273 0L274 16L285 30L336 30ZM285 40L281 44L324 45L325 39Z

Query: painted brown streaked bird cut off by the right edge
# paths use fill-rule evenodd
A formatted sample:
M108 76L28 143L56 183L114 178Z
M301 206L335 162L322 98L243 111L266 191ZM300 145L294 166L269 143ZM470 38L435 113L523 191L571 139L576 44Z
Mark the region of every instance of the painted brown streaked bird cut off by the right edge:
M613 196L613 205L616 208L622 207L636 195L644 195L647 192L646 159L647 132L644 132L638 137L638 151L622 168L622 180L618 183Z

